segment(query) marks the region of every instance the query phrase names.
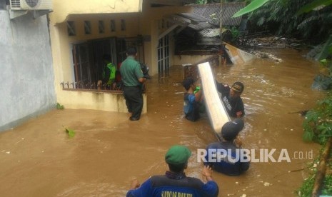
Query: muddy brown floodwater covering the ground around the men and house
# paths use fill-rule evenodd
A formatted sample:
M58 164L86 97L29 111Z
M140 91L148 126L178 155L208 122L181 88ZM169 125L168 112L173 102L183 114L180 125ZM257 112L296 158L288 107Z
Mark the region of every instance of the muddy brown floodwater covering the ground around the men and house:
M213 70L218 81L245 84L243 147L275 148L276 160L286 149L291 162L252 162L241 176L214 172L219 196L296 196L307 176L299 169L318 153L317 144L302 141L303 117L289 113L323 98L311 89L318 64L291 49L268 52L283 62L256 59ZM186 174L202 178L196 150L216 138L206 116L195 123L183 118L182 78L183 68L172 66L167 76L147 82L148 113L140 121L126 113L64 109L1 132L0 196L125 196L133 178L142 183L166 171L164 154L173 144L191 148Z

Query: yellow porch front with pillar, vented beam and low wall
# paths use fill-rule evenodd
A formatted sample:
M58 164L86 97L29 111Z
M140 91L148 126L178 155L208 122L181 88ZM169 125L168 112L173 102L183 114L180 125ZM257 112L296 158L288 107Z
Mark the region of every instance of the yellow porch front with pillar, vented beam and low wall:
M109 37L136 37L139 34L139 16L137 13L127 14L81 14L69 16L75 23L75 36L69 36L66 22L50 24L52 53L54 61L55 87L57 102L65 108L89 108L103 111L127 112L122 94L111 94L98 91L63 90L62 82L74 81L73 44L94 39ZM116 31L111 31L111 20L116 22ZM126 21L126 30L121 30L121 20ZM84 33L84 21L91 22L91 34ZM99 21L104 21L105 31L99 33ZM146 94L142 113L146 113Z

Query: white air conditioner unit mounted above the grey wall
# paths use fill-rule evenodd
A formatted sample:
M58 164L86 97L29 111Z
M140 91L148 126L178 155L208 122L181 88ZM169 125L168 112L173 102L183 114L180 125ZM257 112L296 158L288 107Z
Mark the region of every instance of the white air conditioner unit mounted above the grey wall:
M11 10L52 10L52 0L10 0Z

